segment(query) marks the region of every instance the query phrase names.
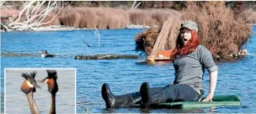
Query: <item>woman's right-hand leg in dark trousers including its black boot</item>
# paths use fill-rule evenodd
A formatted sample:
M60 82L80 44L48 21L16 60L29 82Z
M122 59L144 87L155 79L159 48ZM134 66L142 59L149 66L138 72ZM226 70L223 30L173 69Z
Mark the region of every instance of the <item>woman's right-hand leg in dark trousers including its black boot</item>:
M149 83L141 84L141 108L155 107L160 103L173 101L198 101L201 95L188 85L168 85L162 90L152 93Z

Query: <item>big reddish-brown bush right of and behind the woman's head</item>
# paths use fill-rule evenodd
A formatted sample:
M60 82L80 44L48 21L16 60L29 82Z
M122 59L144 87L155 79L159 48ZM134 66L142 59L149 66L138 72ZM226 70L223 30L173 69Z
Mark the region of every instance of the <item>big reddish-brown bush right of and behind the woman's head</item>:
M237 53L251 31L246 21L235 17L224 2L188 2L182 19L198 23L201 44L222 58Z

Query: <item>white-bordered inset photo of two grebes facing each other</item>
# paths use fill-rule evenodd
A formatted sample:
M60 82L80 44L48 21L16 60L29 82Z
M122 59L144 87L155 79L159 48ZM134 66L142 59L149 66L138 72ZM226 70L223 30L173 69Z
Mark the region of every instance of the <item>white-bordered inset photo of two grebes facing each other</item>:
M72 114L75 68L6 68L6 114Z

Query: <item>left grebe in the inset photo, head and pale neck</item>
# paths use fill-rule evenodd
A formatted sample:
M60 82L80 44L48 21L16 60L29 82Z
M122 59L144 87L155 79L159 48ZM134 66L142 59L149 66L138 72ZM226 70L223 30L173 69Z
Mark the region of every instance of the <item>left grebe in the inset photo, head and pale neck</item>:
M40 114L33 97L33 93L36 92L36 87L41 89L41 87L36 84L36 72L31 72L30 75L27 72L22 73L21 76L25 79L24 83L21 85L21 91L28 97L30 111L32 114Z

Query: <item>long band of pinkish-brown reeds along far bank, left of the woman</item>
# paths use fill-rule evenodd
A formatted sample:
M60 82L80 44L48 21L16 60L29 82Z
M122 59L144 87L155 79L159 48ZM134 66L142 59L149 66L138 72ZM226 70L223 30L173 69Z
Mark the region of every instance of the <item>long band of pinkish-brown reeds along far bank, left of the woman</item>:
M20 10L2 9L3 17L13 15L17 17ZM73 7L66 6L60 10L60 13L49 24L43 24L41 27L51 25L65 25L75 28L103 28L120 29L126 28L127 24L139 24L145 26L155 26L163 24L168 16L180 17L179 11L173 9L115 9L106 7ZM52 19L54 13L50 13L43 23ZM23 17L24 18L24 17ZM21 19L21 21L25 21Z

